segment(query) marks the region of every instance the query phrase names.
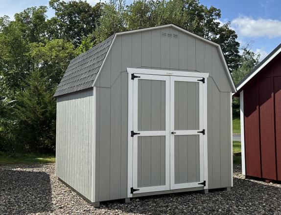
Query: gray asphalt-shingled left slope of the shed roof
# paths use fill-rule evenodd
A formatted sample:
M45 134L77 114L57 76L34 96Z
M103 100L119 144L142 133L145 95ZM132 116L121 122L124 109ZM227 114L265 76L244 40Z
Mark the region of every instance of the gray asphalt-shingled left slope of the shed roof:
M71 60L54 96L92 87L113 38L114 35Z

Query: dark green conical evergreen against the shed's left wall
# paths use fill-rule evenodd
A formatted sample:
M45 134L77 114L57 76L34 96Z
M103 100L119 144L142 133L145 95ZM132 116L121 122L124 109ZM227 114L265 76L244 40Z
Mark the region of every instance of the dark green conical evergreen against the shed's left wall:
M28 151L50 152L55 149L56 100L54 89L38 70L27 79L26 88L17 95L15 108L15 142ZM11 131L13 132L13 131Z

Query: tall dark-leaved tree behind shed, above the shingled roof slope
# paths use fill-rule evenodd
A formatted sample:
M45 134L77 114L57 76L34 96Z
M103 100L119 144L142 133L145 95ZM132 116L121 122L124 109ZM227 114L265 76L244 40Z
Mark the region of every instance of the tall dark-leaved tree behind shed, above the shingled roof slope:
M49 6L55 10L55 17L48 21L50 38L64 39L79 46L83 37L93 33L101 16L103 3L94 7L82 0L50 0Z

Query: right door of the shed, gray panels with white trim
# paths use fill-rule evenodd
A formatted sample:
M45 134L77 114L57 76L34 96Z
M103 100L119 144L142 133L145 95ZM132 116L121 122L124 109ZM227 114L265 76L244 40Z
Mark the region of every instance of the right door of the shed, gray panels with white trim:
M171 77L171 189L203 186L203 83Z

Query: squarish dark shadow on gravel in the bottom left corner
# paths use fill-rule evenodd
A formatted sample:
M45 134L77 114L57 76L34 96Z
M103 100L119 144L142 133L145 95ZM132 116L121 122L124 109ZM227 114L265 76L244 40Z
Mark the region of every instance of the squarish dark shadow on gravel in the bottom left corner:
M0 214L49 212L51 199L46 172L0 170Z

